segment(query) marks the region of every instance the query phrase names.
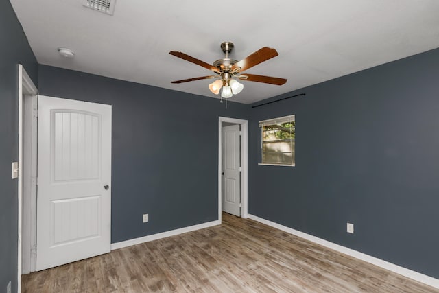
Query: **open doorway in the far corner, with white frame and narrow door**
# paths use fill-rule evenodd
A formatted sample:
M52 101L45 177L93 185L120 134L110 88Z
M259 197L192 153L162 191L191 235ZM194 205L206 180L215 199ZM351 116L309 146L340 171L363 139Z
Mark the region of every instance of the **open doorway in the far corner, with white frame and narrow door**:
M218 137L218 219L248 218L248 121L219 117Z

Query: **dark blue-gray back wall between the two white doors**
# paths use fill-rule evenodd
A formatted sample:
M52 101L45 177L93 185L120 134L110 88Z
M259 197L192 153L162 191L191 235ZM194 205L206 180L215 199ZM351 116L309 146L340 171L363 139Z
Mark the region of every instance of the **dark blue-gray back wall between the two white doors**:
M246 119L250 106L39 69L42 95L112 105L113 243L217 220L218 117Z

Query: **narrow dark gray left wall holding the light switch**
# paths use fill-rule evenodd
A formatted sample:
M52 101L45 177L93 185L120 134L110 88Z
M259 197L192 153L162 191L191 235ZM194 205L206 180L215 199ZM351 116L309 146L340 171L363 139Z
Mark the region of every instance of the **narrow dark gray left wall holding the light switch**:
M0 292L17 272L17 180L11 163L18 161L18 65L38 82L38 65L9 1L0 1Z

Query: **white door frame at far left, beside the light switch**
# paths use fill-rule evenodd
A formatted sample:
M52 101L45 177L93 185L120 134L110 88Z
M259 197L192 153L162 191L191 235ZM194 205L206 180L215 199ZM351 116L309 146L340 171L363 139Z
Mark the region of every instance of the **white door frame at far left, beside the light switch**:
M23 65L19 64L19 178L18 178L18 205L19 205L19 218L18 218L18 254L17 254L17 291L21 292L21 270L22 270L22 241L23 241L23 105L25 95L32 96L38 95L38 89L32 79L29 77ZM30 227L29 227L30 228Z

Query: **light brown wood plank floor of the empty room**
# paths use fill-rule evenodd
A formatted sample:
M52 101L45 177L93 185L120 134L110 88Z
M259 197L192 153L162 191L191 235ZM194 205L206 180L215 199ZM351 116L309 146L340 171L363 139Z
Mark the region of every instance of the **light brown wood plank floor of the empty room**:
M439 292L253 220L23 276L23 292Z

